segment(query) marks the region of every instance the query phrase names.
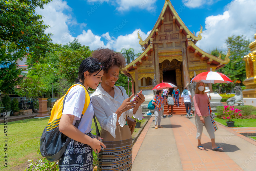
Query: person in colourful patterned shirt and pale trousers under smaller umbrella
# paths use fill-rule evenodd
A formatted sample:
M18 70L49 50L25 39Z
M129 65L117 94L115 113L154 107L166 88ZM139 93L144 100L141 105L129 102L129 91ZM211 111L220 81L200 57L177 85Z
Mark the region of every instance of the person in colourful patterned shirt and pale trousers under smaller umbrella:
M153 102L152 104L155 105L155 109L154 109L154 114L155 114L155 128L163 128L161 125L160 125L160 122L161 122L161 117L162 115L164 114L164 99L163 97L161 96L161 94L163 93L163 90L157 90L156 91L156 96L154 97L153 99ZM158 124L158 126L157 126Z

